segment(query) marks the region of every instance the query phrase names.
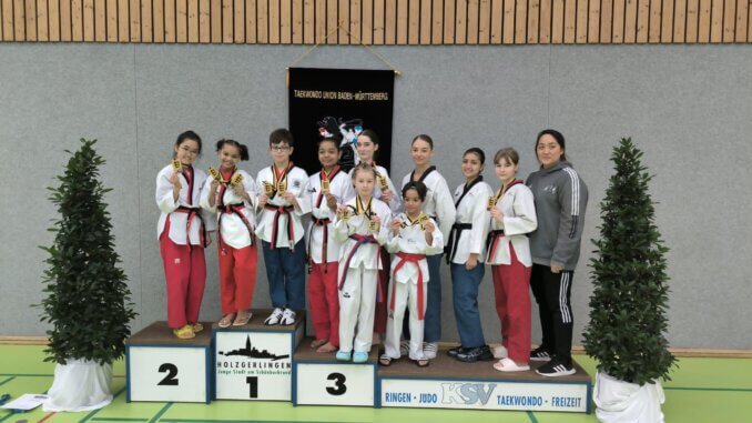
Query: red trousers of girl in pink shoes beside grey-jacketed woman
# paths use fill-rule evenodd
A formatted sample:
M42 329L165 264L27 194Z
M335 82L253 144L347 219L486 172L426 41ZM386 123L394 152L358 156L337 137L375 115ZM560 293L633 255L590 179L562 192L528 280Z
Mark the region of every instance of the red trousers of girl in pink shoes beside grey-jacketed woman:
M509 359L527 363L530 359L530 268L517 260L509 244L511 264L495 264L496 313L501 320L501 343Z

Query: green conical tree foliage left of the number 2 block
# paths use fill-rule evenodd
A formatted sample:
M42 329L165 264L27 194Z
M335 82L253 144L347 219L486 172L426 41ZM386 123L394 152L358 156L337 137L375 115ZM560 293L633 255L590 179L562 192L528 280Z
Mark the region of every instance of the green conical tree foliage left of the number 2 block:
M40 304L42 322L52 324L45 361L65 364L85 359L100 364L123 355L129 323L135 316L131 292L120 256L114 251L110 213L104 189L98 180L104 160L93 149L96 140L81 139L61 182L49 200L58 207L60 220L49 231L55 233L52 246L41 246L45 260L44 292Z

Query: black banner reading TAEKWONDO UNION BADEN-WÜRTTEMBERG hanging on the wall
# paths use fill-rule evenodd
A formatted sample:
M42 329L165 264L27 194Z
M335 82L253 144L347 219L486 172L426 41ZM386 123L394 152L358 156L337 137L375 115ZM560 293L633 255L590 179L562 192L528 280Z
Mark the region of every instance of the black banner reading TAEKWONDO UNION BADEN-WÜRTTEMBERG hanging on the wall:
M289 69L289 130L293 161L308 174L321 169L316 144L325 137L342 139L339 165L359 163L356 142L365 129L379 138L376 162L389 170L394 71L357 69Z

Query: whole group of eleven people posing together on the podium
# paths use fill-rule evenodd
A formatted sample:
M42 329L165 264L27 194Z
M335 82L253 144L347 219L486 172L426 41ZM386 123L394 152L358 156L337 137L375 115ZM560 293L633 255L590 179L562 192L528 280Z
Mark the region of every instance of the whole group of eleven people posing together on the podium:
M499 150L494 157L496 190L481 174L484 151L468 149L461 159L465 183L454 194L431 165L428 135L413 139L415 169L399 189L375 162L379 140L374 131L357 137L359 163L348 172L338 165L339 145L338 138L322 139L322 170L308 175L291 161L291 132L275 130L268 143L272 165L253 178L238 168L248 160L245 145L220 140L219 165L204 172L193 167L201 138L192 131L180 134L172 163L156 177L155 194L167 321L175 336L190 339L203 330L204 249L212 236L220 265L217 325L248 323L260 240L274 308L264 323L294 324L296 311L306 305L308 273L311 346L317 352L363 363L385 335L380 365L407 355L427 366L441 338L439 270L445 258L460 339L448 350L450 356L463 362L498 359L494 367L501 372L527 371L533 360L547 361L537 369L542 375L575 373L571 278L588 191L566 159L561 133L538 134L540 169L526 182L517 179L517 151ZM501 321L501 346L494 350L478 311L486 264ZM530 289L542 329L542 342L532 351Z

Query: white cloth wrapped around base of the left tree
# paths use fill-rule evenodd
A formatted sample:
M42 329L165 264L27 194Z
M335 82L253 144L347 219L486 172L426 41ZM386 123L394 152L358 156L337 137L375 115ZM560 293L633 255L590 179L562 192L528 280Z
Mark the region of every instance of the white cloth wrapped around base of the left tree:
M54 381L44 411L89 411L112 402L112 364L69 360L54 367Z

